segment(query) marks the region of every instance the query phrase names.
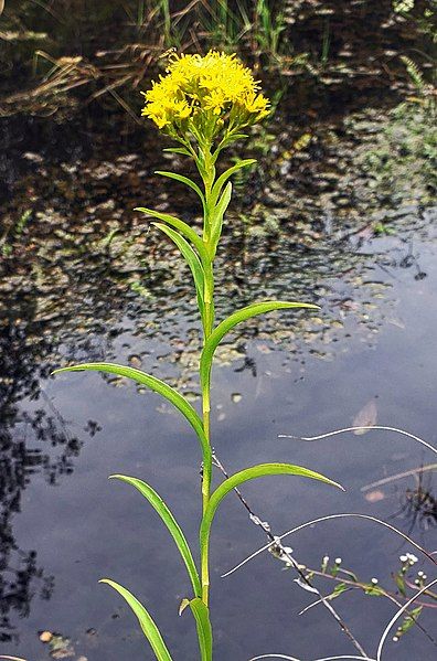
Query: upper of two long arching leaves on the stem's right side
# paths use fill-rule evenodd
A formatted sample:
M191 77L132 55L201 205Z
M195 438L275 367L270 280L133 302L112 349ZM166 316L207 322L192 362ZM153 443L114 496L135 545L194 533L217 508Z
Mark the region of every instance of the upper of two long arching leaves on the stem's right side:
M318 306L315 306L312 303L267 300L246 306L245 308L242 308L241 310L233 312L232 314L230 314L230 317L221 321L218 326L213 330L211 335L207 338L202 351L200 361L200 373L202 383L205 386L209 386L211 379L212 360L214 358L215 350L218 347L220 342L223 340L224 335L230 332L230 330L232 330L242 321L246 321L247 319L256 317L257 314L271 312L273 310L286 310L292 308L309 308L310 310L319 309Z

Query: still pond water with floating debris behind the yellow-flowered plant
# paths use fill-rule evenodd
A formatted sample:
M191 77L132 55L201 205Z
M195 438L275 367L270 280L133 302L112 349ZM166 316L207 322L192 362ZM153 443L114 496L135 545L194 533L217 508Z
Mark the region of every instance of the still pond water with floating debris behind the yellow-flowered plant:
M317 443L278 438L361 419L436 445L437 209L420 188L420 163L412 170L393 154L387 179L386 169L370 171L365 160L370 152L379 158L381 136L395 121L370 111L315 126L307 150L281 124L273 137L258 137L268 166L246 182L251 194L244 182L237 188L218 256L217 313L268 297L321 309L252 321L218 352L213 444L228 472L289 461L345 487L342 493L288 477L247 484L244 495L275 534L326 514L360 512L435 551L431 472L423 477L428 500L416 509L415 477L363 490L435 462L430 451L376 430ZM189 585L175 548L140 495L107 480L119 472L149 481L195 544L200 458L190 429L157 395L125 380L50 373L77 360L131 364L199 405L199 322L188 273L130 210L159 205L193 222L198 212L179 189L173 201L171 186L157 183L162 156L149 136L118 147L109 139L110 157L105 137L94 135L87 147L64 145L56 153L39 141L38 127L29 151L15 142L8 162L14 183L1 267L0 651L49 659L39 640L47 630L70 639L57 657L52 650L54 658L151 659L128 608L98 585L107 576L150 608L174 659L194 659L193 622L188 614L178 617ZM315 597L271 555L221 578L265 541L238 500L227 498L212 543L217 661L354 653L323 606L298 615ZM341 556L360 579L376 577L393 593L398 556L414 551L353 519L321 523L288 543L308 567L319 568L326 554ZM419 569L435 575L420 556L412 580ZM328 594L334 584L317 585ZM374 654L395 606L351 590L335 608ZM424 609L419 621L436 637L434 614ZM436 652L417 627L397 643L388 640L386 659L419 661Z

